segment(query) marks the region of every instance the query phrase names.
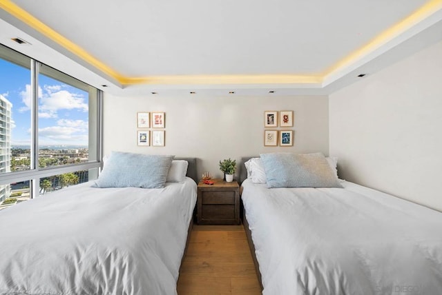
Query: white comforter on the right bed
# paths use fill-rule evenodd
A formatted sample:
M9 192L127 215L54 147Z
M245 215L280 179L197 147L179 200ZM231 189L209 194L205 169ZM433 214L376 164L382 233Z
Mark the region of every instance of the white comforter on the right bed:
M242 186L263 294L442 294L442 213L349 182Z

